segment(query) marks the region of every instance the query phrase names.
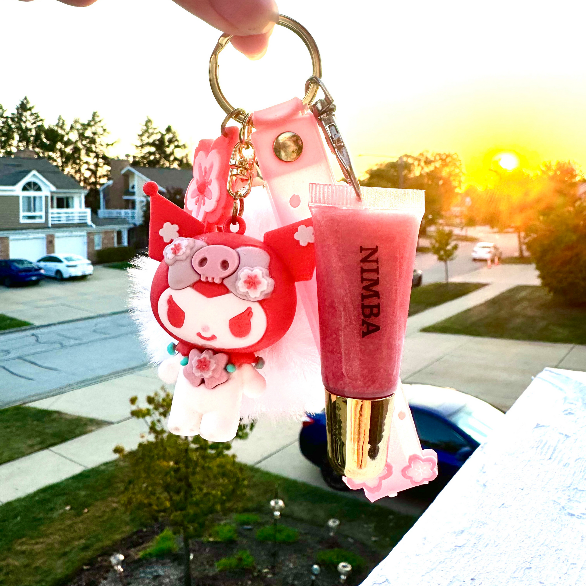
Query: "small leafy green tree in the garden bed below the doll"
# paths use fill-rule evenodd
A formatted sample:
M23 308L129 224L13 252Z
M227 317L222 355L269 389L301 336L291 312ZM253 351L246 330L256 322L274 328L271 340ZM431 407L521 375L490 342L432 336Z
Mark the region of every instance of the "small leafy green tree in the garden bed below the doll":
M236 456L227 454L229 443L212 443L196 435L173 435L163 421L171 411L168 391L147 397L147 408L131 415L148 421L148 440L133 452L121 446L114 452L128 465L123 504L151 522L164 520L183 539L184 584L191 584L189 539L200 537L210 517L227 515L246 496L244 469ZM136 406L137 397L130 400ZM244 439L246 429L239 428Z

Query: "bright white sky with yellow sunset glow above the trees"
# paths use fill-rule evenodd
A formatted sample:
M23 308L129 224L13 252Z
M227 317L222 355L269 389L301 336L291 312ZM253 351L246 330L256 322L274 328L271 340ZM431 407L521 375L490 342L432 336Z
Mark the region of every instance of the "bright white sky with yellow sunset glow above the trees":
M357 172L403 153L457 152L482 185L493 156L527 169L572 159L586 170L584 2L282 0L322 53L323 80ZM132 152L147 115L195 147L219 134L223 111L207 81L220 32L171 0L55 0L0 6L0 103L25 94L43 117L104 118L113 155ZM232 47L220 81L255 110L302 96L311 63L281 27L250 62ZM341 173L340 173L341 175Z

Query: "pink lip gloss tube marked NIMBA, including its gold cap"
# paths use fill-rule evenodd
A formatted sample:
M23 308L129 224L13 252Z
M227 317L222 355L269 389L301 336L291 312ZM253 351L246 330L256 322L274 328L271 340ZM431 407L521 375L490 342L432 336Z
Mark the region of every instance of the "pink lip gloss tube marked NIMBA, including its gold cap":
M375 478L389 449L424 192L312 183L328 458Z

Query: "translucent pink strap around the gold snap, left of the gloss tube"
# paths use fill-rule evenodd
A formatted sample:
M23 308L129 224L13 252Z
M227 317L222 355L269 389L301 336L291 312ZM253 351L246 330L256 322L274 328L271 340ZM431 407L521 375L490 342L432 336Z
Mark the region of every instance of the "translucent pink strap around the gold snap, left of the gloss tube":
M257 153L277 222L285 226L309 217L309 183L335 183L332 167L314 115L299 98L253 113L251 140ZM274 142L284 132L301 138L302 151L294 161L282 161ZM297 284L309 326L319 348L318 297L315 275Z

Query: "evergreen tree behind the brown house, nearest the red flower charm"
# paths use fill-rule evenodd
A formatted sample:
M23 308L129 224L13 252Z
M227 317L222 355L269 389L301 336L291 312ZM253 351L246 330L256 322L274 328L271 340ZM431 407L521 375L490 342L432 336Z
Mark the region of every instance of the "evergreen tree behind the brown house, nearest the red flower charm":
M190 169L187 145L179 141L179 135L171 125L161 132L147 117L138 134L138 144L132 164L141 167L165 167Z

